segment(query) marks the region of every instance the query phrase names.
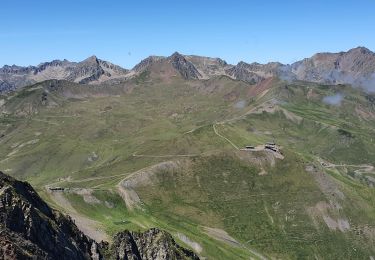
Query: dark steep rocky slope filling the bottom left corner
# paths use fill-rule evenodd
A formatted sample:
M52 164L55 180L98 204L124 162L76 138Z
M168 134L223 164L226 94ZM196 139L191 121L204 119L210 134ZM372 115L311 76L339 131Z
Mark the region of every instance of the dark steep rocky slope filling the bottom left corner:
M98 244L52 210L25 182L0 172L0 256L7 259L101 259Z

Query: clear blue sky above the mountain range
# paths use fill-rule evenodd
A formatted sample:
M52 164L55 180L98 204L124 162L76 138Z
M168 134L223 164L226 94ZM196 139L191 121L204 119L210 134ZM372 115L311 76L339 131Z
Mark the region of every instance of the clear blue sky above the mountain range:
M174 51L229 63L291 63L375 51L374 0L12 0L0 7L0 66L90 55L131 68Z

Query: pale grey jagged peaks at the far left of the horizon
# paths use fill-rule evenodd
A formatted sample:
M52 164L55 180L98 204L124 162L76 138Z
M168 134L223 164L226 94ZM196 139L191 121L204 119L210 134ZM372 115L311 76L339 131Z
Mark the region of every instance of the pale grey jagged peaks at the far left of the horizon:
M127 72L126 69L95 56L82 62L54 60L29 67L6 65L0 68L0 91L9 91L49 79L100 83L111 78L122 77Z

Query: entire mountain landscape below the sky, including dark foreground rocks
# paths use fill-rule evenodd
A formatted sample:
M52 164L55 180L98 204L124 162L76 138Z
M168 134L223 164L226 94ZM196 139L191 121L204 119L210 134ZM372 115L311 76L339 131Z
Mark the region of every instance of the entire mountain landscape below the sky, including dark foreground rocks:
M373 64L4 67L0 259L374 259Z

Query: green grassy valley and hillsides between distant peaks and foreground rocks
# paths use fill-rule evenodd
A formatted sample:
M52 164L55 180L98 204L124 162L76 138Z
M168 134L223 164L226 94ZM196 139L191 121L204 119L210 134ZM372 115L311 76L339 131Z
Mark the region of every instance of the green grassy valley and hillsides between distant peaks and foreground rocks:
M158 227L203 259L375 256L373 94L184 64L2 94L0 168L98 242Z

